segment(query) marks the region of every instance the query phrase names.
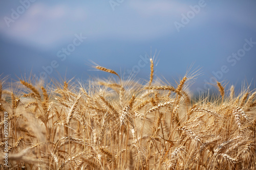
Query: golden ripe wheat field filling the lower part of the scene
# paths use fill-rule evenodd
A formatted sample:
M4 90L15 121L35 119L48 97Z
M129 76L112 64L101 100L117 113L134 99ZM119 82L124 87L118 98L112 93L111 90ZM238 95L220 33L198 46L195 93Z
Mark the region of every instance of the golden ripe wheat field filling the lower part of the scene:
M197 72L172 85L152 59L144 81L95 68L110 78L1 80L1 169L256 169L255 90L196 99Z

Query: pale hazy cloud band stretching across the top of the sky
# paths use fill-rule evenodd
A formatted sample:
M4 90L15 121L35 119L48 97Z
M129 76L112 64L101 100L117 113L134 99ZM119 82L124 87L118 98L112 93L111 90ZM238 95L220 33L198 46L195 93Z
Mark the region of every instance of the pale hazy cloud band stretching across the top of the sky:
M0 20L0 34L42 48L54 48L69 42L75 33L83 33L88 40L95 41L106 38L148 40L177 35L174 21L180 22L181 14L186 14L191 10L189 6L197 3L132 0L116 7L120 10L112 11L109 3L97 5L96 3L36 2L11 23L11 27L6 26L4 19ZM192 34L198 33L198 30L203 30L206 26L218 27L227 23L227 20L255 30L253 17L242 14L246 9L234 14L233 10L239 9L239 5L233 5L234 8L229 9L226 8L230 6L228 3L224 3L221 7L214 2L207 1L206 4L206 7L191 19L188 26L182 28L183 30L188 30L189 27ZM11 10L6 16L10 13ZM228 13L232 15L229 16ZM223 29L221 31L223 32Z

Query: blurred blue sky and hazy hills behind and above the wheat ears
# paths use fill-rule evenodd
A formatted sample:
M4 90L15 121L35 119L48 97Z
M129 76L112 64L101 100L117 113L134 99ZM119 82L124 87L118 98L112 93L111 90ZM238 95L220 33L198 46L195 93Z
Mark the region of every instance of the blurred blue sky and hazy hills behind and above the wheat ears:
M189 67L201 75L195 93L216 81L255 88L256 2L247 1L0 1L0 75L86 81L155 76L174 83ZM191 72L190 71L190 72Z

